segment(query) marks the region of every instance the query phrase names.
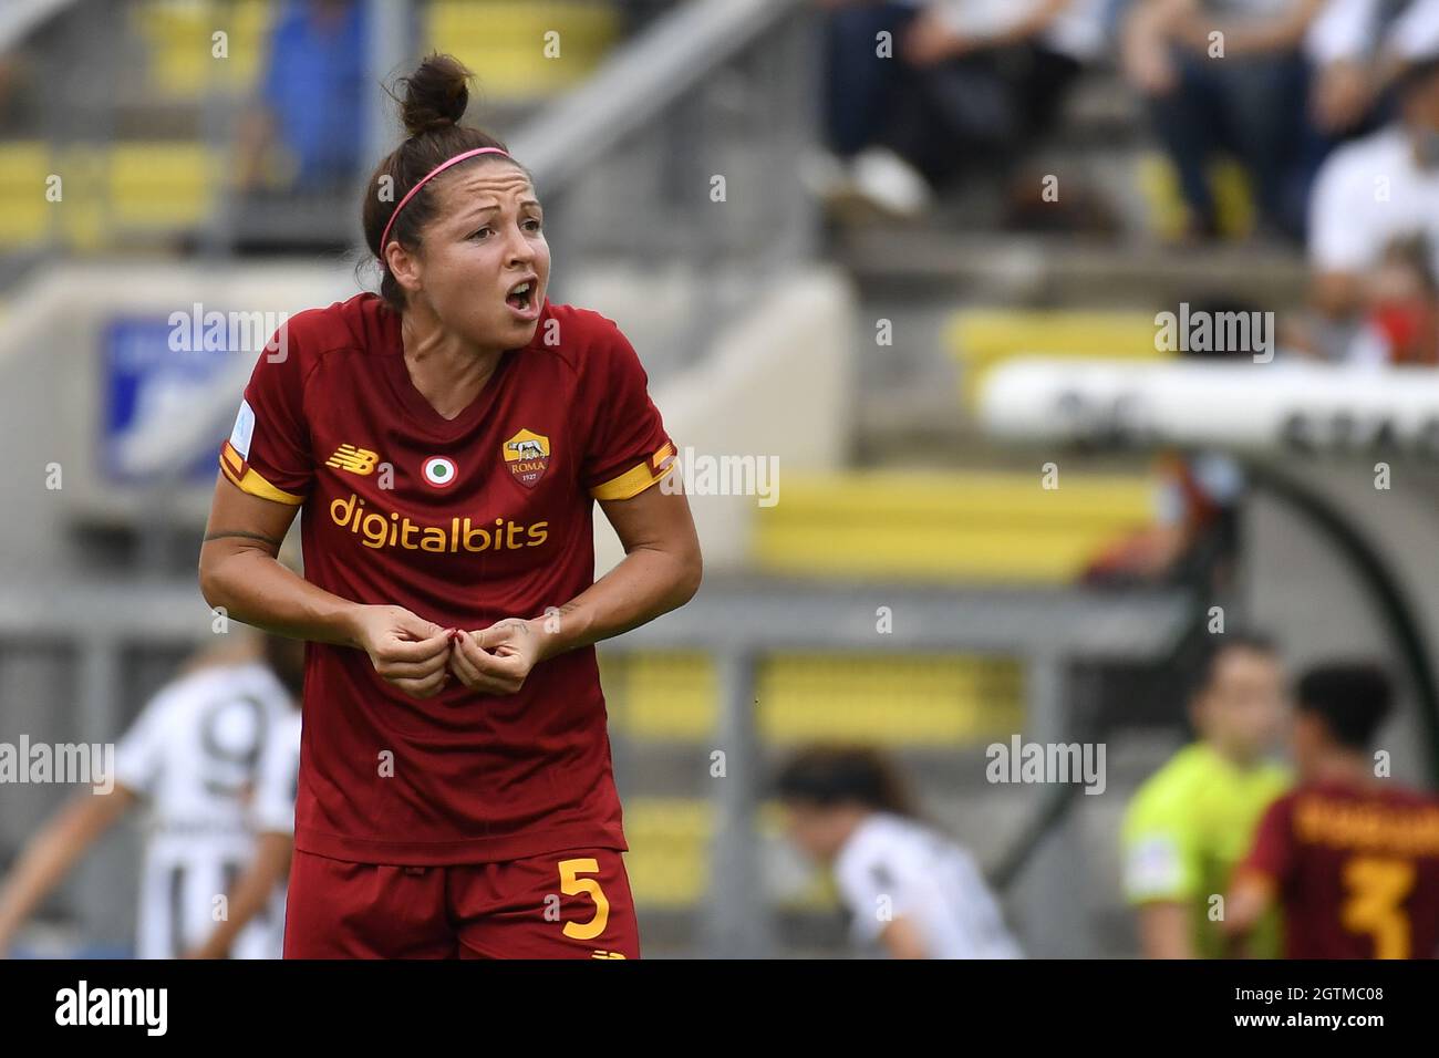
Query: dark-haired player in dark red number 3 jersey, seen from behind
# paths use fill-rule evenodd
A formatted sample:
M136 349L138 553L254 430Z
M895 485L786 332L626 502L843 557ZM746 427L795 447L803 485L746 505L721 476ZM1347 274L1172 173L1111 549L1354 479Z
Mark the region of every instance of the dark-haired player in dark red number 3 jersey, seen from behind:
M1439 956L1439 802L1374 774L1393 694L1374 665L1324 665L1298 688L1301 785L1263 816L1235 877L1226 931L1284 908L1289 959Z

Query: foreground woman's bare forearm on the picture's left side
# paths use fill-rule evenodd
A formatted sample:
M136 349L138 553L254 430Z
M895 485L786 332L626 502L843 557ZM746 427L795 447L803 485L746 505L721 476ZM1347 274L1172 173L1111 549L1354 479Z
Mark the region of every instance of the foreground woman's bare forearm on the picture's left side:
M229 618L266 632L358 645L360 603L311 584L260 548L226 548L223 540L207 540L200 550L200 592Z

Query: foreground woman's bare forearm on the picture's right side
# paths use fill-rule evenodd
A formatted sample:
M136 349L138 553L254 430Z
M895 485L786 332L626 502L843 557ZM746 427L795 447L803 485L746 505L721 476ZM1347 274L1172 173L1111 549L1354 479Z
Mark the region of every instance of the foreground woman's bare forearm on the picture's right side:
M637 547L558 612L534 618L541 659L646 625L699 590L699 553Z

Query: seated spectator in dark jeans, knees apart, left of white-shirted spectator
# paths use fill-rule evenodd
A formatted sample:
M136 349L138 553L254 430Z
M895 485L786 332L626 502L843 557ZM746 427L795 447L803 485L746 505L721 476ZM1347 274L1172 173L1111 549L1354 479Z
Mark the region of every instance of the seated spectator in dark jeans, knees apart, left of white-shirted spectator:
M1233 154L1261 223L1304 230L1311 23L1325 0L1135 0L1122 30L1127 76L1148 101L1189 210L1187 238L1219 235L1209 166Z

